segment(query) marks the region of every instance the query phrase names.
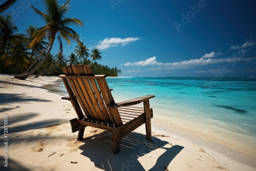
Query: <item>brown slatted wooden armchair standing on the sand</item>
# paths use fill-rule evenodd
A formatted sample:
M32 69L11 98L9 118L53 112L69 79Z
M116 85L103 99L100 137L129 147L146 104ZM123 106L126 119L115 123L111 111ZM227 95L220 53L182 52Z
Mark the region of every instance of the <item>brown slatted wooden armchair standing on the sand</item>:
M105 75L94 75L88 65L69 65L63 68L62 78L78 118L70 120L72 132L78 132L77 140L83 138L84 128L93 126L112 132L113 153L119 153L121 139L145 123L146 138L151 140L153 110L147 95L116 103ZM134 106L143 102L143 106Z

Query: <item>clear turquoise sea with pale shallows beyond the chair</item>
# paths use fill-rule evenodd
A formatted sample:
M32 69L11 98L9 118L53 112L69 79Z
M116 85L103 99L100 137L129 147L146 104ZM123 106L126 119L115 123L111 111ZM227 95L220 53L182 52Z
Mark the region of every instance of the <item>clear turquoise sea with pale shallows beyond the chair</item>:
M144 95L154 117L256 154L255 77L106 78L116 102Z

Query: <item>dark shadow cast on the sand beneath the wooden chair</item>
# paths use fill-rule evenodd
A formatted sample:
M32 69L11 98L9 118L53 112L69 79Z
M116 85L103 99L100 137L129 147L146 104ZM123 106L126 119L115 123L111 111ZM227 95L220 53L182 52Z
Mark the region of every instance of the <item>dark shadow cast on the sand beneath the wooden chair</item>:
M153 151L162 148L165 151L161 150L161 156L154 161L155 165L150 170L165 170L164 167L167 167L184 148L179 145L172 146L169 142L156 137L147 141L144 134L132 132L122 139L120 152L113 155L114 144L111 140L109 131L84 138L80 140L84 143L79 146L81 155L90 158L96 167L104 170L146 170L143 165L149 163L141 163L138 159L145 155L151 158L151 155L154 155Z

